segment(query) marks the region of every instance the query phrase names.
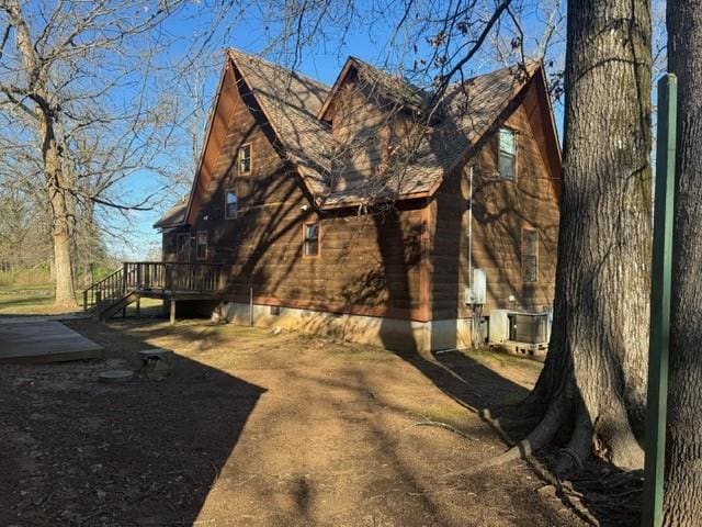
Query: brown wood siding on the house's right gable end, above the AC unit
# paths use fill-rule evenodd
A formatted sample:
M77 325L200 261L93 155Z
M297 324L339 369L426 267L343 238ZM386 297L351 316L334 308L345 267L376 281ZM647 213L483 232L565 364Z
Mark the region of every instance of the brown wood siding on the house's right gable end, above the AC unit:
M431 301L434 319L471 316L465 288L471 269L485 270L491 309L542 311L553 304L558 238L558 175L543 142L543 108L532 82L502 124L517 131L517 180L498 173L498 134L478 147L468 164L448 177L432 201ZM543 100L542 100L543 102ZM536 115L536 113L540 113ZM547 112L546 112L547 115ZM497 127L496 127L497 128ZM553 156L553 154L551 154ZM556 149L557 156L557 149ZM473 199L468 184L473 167ZM468 220L472 268L468 268ZM537 232L537 278L522 277L522 229ZM510 301L510 295L514 301Z

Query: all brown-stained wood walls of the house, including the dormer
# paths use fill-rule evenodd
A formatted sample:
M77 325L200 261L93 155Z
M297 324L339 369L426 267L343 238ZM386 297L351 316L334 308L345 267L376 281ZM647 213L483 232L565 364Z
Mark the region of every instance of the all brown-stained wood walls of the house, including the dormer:
M239 78L237 68L235 65L225 72L197 178L199 195L193 198L196 203L189 218L191 233L208 233L207 261L228 268L224 300L248 302L252 287L254 298L271 305L278 302L373 316L392 313L428 321L433 304L442 317L446 312L453 312L454 317L469 316L472 312L464 304L469 277L464 246L468 195L464 167L445 175L433 198L398 202L383 213L359 214L356 208L317 210L299 173L281 157L281 145L265 119L265 109L249 91L247 79ZM473 267L488 272L488 309L505 306L512 294L518 298L514 305L524 309L541 309L553 298L553 258L547 255L555 254L556 233L546 227L543 231L548 235L540 237L543 277L540 274L539 288L520 282L519 240L524 218L539 225L557 225L557 195L548 171L554 158L550 149L557 149L557 144L545 149L535 144L545 141L547 133L532 128L548 124L541 119L544 111L548 114L545 92L535 91L536 85L531 82L526 94L520 96L523 104L510 106L511 113L500 117L520 133L518 181L510 183L517 190L506 190L496 181L494 138L488 137L469 159L476 166L474 187L483 191L478 199L485 202L484 209L508 209L474 225ZM331 122L331 135L339 142L362 135L384 120L382 111L359 99L361 92L354 90L353 82L347 88L348 93L339 93L325 113ZM344 98L349 100L346 113L337 108ZM537 116L535 109L541 112ZM398 113L393 121L393 137L401 138L407 133L403 115ZM376 141L377 148L371 146L363 159L351 162L335 184L354 184L359 168L383 159L381 143L385 138L380 134ZM238 173L236 166L236 153L242 144L251 145L252 170L246 175ZM551 156L547 162L544 152ZM239 198L234 220L225 218L228 189L237 189ZM302 229L308 222L320 225L320 254L315 258L303 257ZM174 251L179 234L182 231L163 235L163 247L170 248L165 255L170 261L182 258Z

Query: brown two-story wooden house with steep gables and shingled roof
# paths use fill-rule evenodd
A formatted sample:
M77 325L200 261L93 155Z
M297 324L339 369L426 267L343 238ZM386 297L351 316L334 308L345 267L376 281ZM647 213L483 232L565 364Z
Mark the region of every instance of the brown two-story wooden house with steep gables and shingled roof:
M559 189L537 63L435 98L353 57L329 88L229 49L192 191L155 226L166 261L222 265L219 316L437 350L550 309Z

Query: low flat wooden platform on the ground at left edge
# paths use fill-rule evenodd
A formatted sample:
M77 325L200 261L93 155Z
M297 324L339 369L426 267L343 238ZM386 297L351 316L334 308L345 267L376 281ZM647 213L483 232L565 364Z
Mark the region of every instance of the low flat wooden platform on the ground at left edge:
M102 346L60 322L0 324L0 362L43 363L102 357Z

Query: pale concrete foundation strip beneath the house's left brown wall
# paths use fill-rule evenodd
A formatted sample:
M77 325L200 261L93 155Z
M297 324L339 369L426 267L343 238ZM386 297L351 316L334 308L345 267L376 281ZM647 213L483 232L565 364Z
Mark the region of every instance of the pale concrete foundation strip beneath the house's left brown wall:
M239 325L280 327L399 351L468 348L471 319L416 322L228 302L213 315Z

